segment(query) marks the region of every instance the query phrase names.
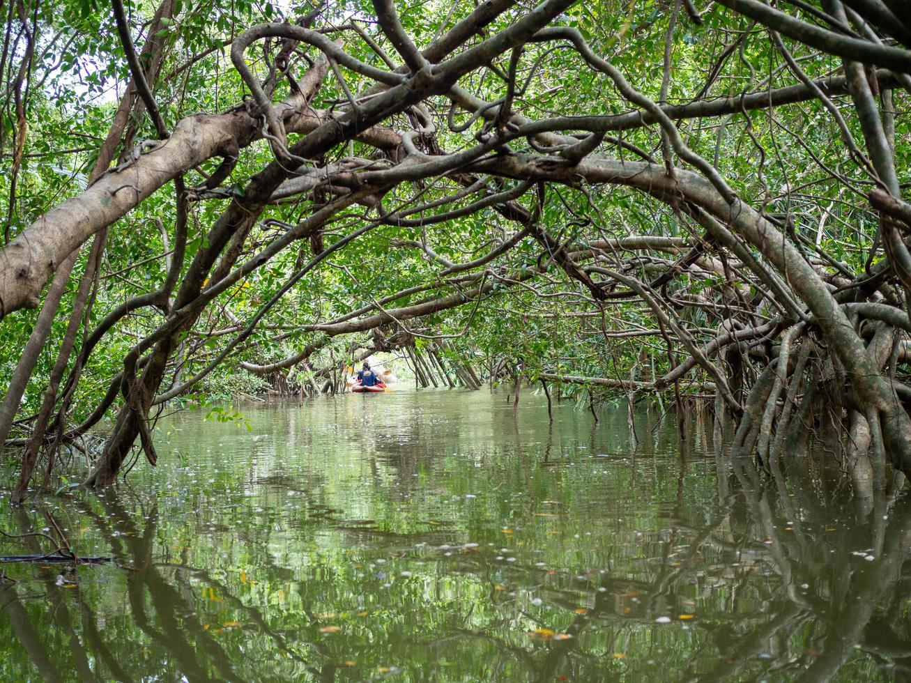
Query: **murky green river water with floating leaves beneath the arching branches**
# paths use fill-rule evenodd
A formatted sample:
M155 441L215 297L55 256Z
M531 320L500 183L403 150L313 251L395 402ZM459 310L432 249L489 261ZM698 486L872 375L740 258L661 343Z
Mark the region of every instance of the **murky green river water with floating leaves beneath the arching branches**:
M180 413L159 467L4 565L4 680L867 680L911 666L911 506L762 484L655 410L487 392ZM53 522L51 521L53 518ZM41 539L33 550L44 549ZM4 553L24 545L5 541Z

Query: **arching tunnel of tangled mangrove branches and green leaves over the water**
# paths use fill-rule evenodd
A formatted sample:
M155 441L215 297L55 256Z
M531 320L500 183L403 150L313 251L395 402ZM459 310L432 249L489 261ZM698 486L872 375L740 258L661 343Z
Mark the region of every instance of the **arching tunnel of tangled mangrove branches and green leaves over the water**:
M911 473L904 0L0 7L14 500L371 352Z

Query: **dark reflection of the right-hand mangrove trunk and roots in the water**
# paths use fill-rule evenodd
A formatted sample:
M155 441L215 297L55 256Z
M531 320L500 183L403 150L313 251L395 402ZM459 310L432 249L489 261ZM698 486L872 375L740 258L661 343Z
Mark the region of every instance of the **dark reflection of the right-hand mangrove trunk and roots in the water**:
M888 505L885 492L880 491L873 503L874 515L866 515L865 522L853 529L826 537L827 529L836 531L828 526L834 520L850 519L844 506L839 510L832 501L815 501L807 493L812 488L789 486L781 474L761 484L751 463L736 461L734 472L743 486L752 532L761 535L769 548L761 561L779 577L782 590L767 622L721 647L725 657L704 679L731 677L755 666L755 658L771 651L776 637L783 634L792 634L786 647L794 651L777 658L777 671L791 669L808 681L833 678L856 647L897 657L911 654L907 633L901 636L882 621L870 627L877 612L894 611L905 599L904 591L896 587L911 553L911 504L901 500ZM795 498L801 505L794 505ZM779 504L775 508L773 499ZM813 538L804 526L821 531ZM807 647L801 637L793 637L802 633L801 625L814 621L824 632L818 651ZM886 645L877 649L877 643ZM804 651L799 651L802 647Z

